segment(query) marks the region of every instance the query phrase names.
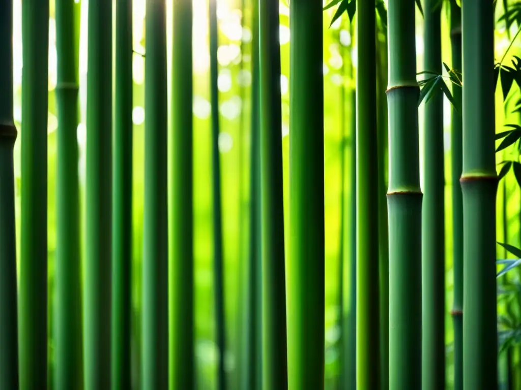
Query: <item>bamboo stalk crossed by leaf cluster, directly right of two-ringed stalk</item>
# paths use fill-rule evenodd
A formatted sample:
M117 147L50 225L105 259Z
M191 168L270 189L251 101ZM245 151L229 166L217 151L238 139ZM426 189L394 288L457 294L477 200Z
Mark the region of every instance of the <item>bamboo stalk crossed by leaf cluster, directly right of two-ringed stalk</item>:
M441 4L425 0L426 71L441 74ZM445 388L445 221L443 95L425 105L422 231L423 390Z

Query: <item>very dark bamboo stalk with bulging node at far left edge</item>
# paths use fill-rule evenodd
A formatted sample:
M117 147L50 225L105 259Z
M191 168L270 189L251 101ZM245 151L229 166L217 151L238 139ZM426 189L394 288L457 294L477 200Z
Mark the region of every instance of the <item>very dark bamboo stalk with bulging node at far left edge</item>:
M0 388L17 390L18 318L13 118L13 0L0 0Z

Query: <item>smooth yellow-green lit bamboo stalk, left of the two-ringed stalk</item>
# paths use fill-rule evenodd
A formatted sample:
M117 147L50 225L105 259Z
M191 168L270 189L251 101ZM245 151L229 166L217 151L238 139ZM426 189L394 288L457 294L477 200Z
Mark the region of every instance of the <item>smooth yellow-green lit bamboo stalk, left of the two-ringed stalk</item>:
M356 75L356 384L380 386L378 244L378 131L376 99L376 11L357 1ZM375 282L376 281L376 282Z

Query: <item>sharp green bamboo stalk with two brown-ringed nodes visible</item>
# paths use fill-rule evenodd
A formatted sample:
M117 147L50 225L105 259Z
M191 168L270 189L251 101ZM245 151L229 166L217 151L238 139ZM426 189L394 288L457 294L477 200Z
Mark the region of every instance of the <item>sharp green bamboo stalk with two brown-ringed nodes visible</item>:
M421 387L421 203L415 4L389 0L389 388Z

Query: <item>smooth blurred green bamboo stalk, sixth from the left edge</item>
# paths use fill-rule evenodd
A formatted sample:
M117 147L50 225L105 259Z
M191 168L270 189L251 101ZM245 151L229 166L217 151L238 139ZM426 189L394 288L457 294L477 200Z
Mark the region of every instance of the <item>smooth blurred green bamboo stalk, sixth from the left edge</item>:
M165 0L146 1L143 354L141 366L141 387L145 390L159 390L168 387L167 60L165 8ZM177 320L188 321L189 319Z

